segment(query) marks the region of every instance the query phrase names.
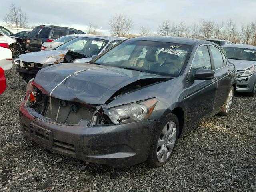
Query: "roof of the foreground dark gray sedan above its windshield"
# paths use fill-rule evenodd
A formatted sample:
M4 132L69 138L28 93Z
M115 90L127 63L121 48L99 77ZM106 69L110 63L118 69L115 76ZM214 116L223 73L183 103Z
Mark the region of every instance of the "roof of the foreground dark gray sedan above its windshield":
M185 37L150 36L150 37L133 37L133 38L129 38L128 40L158 41L158 42L179 43L179 44L185 44L185 45L193 45L195 43L215 45L210 41L185 38Z

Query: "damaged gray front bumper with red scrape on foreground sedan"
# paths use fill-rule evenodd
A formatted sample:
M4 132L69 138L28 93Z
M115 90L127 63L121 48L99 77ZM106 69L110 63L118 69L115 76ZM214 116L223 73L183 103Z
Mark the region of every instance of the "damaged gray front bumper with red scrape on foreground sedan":
M90 126L89 122L63 125L38 118L20 105L22 132L41 146L83 161L112 167L132 166L148 158L153 129L158 123L141 120L120 125ZM89 125L89 126L88 126Z

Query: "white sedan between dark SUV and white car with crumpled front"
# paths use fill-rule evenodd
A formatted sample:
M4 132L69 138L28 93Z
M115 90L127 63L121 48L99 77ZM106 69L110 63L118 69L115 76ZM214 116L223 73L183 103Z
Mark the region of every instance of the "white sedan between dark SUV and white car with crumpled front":
M65 35L63 37L60 37L60 38L52 41L52 42L44 42L42 44L41 51L53 50L56 47L74 39L76 36L77 36L76 34L74 34L74 35Z

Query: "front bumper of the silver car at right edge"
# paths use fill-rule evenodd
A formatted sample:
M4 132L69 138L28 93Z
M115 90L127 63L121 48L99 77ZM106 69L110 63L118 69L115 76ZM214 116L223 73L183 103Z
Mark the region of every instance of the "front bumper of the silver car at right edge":
M256 72L249 77L238 77L236 92L252 92L256 82Z

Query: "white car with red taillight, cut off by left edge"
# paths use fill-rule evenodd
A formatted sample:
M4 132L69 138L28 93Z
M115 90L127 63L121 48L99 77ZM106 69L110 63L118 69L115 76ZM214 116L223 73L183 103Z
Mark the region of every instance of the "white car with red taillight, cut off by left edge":
M12 52L8 42L0 40L0 67L5 71L12 68Z

